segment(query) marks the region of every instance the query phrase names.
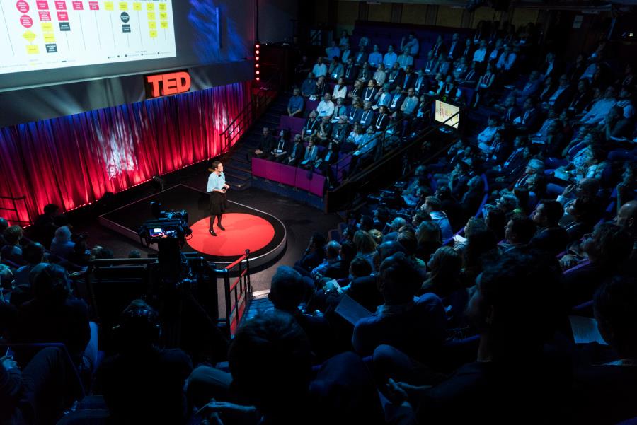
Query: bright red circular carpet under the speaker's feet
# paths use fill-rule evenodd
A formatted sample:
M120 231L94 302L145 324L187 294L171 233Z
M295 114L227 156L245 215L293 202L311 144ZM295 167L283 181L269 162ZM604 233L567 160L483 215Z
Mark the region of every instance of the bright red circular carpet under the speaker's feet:
M246 249L251 252L260 250L272 242L275 236L275 228L270 222L252 214L224 214L222 224L225 231L217 227L215 220L214 232L217 236L212 236L208 232L210 218L197 221L190 226L193 235L186 243L193 250L207 255L232 257L245 254Z

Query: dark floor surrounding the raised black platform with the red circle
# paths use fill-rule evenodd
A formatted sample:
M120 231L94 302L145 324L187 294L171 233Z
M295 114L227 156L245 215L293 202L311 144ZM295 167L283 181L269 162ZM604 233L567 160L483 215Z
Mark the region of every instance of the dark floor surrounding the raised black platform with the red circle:
M197 164L164 178L168 188L183 184L205 191L209 174L207 164ZM143 247L139 242L134 242L115 231L104 228L98 221L98 215L113 211L144 197L149 197L157 192L159 191L151 187L150 184L144 184L116 194L113 199L108 201L108 206L103 206L101 211L88 209L73 211L71 223L74 224L74 231L88 233L89 245L102 245L110 248L115 252L115 257L127 257L131 250L139 250L142 252L142 257L145 257L147 253L154 251ZM322 211L310 206L298 204L291 199L252 187L242 192L229 192L228 197L232 202L275 216L283 223L287 231L287 248L285 251L275 259L273 264L257 267L256 272L252 274L251 281L254 291L270 289L270 279L275 273L276 267L279 265L293 265L307 247L309 238L314 231L327 233L328 230L336 228L340 221L336 214L324 214ZM168 207L167 204L164 206ZM173 206L170 208L173 208ZM180 209L178 206L174 208ZM185 209L185 207L182 208ZM148 211L148 214L150 216L150 211ZM190 212L190 214L192 216L193 213Z

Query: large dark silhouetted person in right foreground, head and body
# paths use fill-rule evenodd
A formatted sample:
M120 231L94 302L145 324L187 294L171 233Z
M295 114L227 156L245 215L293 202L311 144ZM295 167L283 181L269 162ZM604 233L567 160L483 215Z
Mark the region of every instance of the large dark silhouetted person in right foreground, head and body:
M467 305L480 335L476 360L440 383L390 380L389 398L408 402L422 423L502 423L511 412L524 412L515 419L524 424L554 417L553 397L567 388L547 368L553 364L543 347L558 317L554 298L545 293L557 285L558 274L543 257L503 256L478 279ZM507 408L488 409L490 400L506 400Z

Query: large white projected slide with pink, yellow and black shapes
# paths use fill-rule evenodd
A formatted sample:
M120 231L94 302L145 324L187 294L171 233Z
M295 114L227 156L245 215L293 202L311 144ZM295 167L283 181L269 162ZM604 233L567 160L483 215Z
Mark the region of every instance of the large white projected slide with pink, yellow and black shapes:
M0 74L176 55L171 0L0 0Z

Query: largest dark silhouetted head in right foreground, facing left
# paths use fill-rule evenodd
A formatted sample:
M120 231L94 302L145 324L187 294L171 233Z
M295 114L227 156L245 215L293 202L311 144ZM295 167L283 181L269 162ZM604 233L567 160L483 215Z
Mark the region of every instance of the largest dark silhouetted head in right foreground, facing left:
M480 334L478 361L519 363L538 358L558 318L556 297L546 296L558 287L554 262L539 252L515 252L488 264L478 276L466 307L467 318Z

